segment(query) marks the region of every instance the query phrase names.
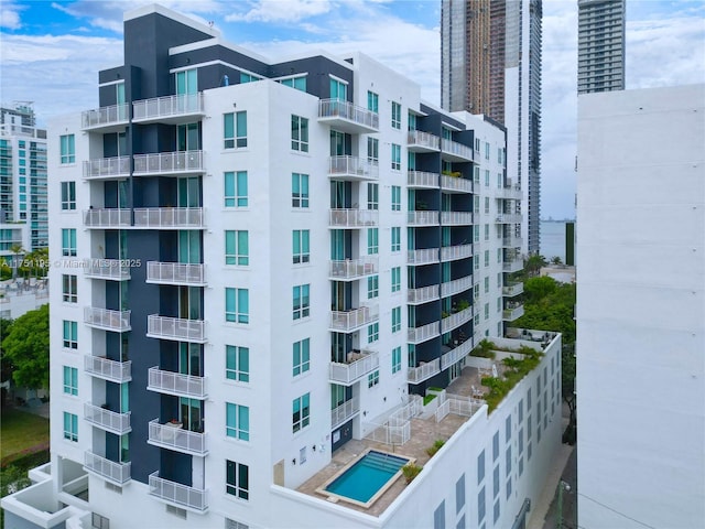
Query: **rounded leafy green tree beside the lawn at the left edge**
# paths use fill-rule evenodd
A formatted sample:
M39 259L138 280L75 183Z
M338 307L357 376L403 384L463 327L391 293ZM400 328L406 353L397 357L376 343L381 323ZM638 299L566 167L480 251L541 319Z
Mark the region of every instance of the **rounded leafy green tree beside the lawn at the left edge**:
M48 389L48 305L18 317L2 341L2 359L18 386Z

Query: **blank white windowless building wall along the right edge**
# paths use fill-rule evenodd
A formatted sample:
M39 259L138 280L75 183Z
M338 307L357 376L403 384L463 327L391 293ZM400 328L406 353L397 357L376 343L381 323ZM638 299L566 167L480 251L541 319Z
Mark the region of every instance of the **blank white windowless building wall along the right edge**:
M704 101L578 97L579 527L705 520Z

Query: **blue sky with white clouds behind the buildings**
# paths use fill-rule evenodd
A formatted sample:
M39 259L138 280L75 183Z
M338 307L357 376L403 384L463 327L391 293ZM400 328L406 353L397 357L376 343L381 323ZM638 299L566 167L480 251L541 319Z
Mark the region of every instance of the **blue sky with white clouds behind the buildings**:
M40 125L98 106L98 71L122 60L139 0L0 0L0 102ZM441 0L162 0L274 61L361 51L441 102ZM705 83L705 0L627 0L627 89ZM543 1L542 217L575 216L577 0Z

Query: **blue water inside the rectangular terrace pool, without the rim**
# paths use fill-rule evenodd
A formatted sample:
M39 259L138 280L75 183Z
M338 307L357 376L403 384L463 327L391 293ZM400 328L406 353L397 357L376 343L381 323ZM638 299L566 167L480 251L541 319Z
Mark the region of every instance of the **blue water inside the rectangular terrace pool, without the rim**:
M329 493L368 503L409 460L370 451L326 487Z

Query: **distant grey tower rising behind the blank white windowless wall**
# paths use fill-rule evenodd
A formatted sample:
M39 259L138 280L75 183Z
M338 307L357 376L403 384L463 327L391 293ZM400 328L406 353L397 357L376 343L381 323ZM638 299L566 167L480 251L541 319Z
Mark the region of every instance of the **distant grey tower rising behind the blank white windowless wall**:
M577 0L577 93L625 89L627 0Z

